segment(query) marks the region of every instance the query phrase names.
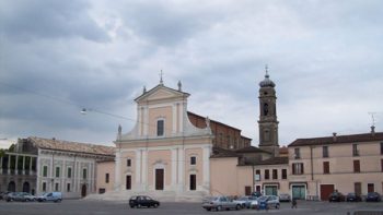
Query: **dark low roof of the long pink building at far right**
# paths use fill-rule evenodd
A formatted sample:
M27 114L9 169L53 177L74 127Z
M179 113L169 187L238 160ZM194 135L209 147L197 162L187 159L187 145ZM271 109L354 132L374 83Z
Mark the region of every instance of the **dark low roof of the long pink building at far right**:
M306 145L340 144L340 143L359 143L359 142L371 142L371 141L383 141L383 132L323 136L323 138L312 138L312 139L297 139L294 142L289 144L289 147L306 146Z

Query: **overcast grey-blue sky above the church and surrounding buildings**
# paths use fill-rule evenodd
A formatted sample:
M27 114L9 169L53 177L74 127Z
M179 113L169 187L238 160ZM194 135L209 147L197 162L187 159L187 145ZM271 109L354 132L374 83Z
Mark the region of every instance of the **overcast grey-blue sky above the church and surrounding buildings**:
M159 84L258 145L258 83L276 83L279 143L383 131L383 1L2 0L0 146L112 144ZM109 115L89 111L92 108Z

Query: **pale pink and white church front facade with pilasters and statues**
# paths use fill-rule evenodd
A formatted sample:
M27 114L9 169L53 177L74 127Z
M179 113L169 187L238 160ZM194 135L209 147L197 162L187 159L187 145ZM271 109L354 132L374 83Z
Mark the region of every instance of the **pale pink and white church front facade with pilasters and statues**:
M135 99L137 123L116 144L115 190L209 192L213 135L187 115L189 94L161 82Z

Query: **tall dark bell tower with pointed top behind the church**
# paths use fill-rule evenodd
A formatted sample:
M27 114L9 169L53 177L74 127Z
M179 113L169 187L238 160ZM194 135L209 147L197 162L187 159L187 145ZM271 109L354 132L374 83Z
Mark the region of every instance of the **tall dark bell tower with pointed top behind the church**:
M265 67L265 79L259 82L259 148L279 156L276 84L269 79Z

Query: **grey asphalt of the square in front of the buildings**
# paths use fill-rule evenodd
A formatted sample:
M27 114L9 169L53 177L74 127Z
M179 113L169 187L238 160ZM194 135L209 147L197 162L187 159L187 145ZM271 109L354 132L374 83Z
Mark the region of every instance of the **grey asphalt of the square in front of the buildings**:
M230 212L207 212L199 203L161 203L158 208L130 208L125 202L105 202L90 200L63 200L61 203L4 202L0 201L0 215L194 215L194 214L344 214L356 211L374 211L383 215L383 202L380 203L328 203L298 202L298 208L282 203L280 210L255 211L241 210Z

